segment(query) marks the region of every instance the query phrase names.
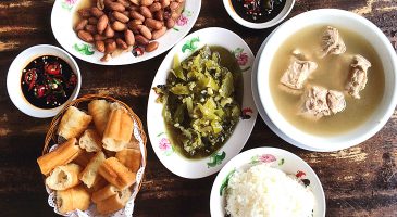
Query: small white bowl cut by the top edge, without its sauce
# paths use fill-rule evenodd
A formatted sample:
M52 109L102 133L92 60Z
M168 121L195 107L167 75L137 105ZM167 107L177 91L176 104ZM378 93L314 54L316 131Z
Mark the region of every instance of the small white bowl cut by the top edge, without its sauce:
M283 10L280 12L277 16L274 18L264 22L264 23L252 23L249 21L244 20L241 16L239 16L236 11L234 10L232 5L233 0L223 0L223 5L225 7L228 15L238 24L248 27L248 28L255 28L255 29L261 29L261 28L269 28L274 25L277 25L280 22L284 21L285 17L289 14L290 10L293 10L295 0L285 0L285 5Z

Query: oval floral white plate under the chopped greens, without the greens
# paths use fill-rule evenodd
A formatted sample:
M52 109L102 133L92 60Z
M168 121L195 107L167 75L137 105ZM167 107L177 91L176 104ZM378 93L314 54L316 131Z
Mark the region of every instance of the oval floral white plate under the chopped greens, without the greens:
M218 152L206 158L187 159L178 154L173 148L173 144L170 143L162 116L163 104L156 102L158 95L151 89L147 112L148 132L151 145L161 163L170 171L185 178L201 178L219 171L227 161L238 154L243 149L250 136L257 117L257 110L251 94L253 54L240 37L227 29L206 28L193 33L183 39L165 56L151 87L165 84L175 54L179 56L179 60L184 60L204 44L226 48L236 56L240 68L244 71L241 108L246 118L240 118L231 138Z

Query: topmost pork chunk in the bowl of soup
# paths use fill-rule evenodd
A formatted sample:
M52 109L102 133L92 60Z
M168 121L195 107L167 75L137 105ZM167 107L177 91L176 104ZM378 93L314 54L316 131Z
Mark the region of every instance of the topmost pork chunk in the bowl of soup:
M346 46L338 29L327 26L321 38L322 52L320 58L328 54L342 54L346 51Z

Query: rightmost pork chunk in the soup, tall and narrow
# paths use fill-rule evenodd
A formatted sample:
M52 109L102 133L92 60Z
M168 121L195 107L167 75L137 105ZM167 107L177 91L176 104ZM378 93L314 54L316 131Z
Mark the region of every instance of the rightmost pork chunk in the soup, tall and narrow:
M365 88L368 81L367 72L369 67L371 67L371 63L364 56L353 56L345 89L355 99L360 99L360 91Z

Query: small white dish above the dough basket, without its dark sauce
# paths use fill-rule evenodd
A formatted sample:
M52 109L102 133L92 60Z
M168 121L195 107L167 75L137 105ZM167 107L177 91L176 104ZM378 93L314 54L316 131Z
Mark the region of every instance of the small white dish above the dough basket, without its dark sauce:
M71 66L71 68L77 76L77 85L69 100L62 105L50 110L39 108L32 105L25 99L21 88L22 71L30 61L41 55L54 55L61 58ZM33 117L45 118L55 116L66 103L77 98L80 86L82 75L76 61L74 61L74 59L66 51L49 44L34 46L24 50L14 59L7 75L7 90L11 98L11 101L21 112Z

